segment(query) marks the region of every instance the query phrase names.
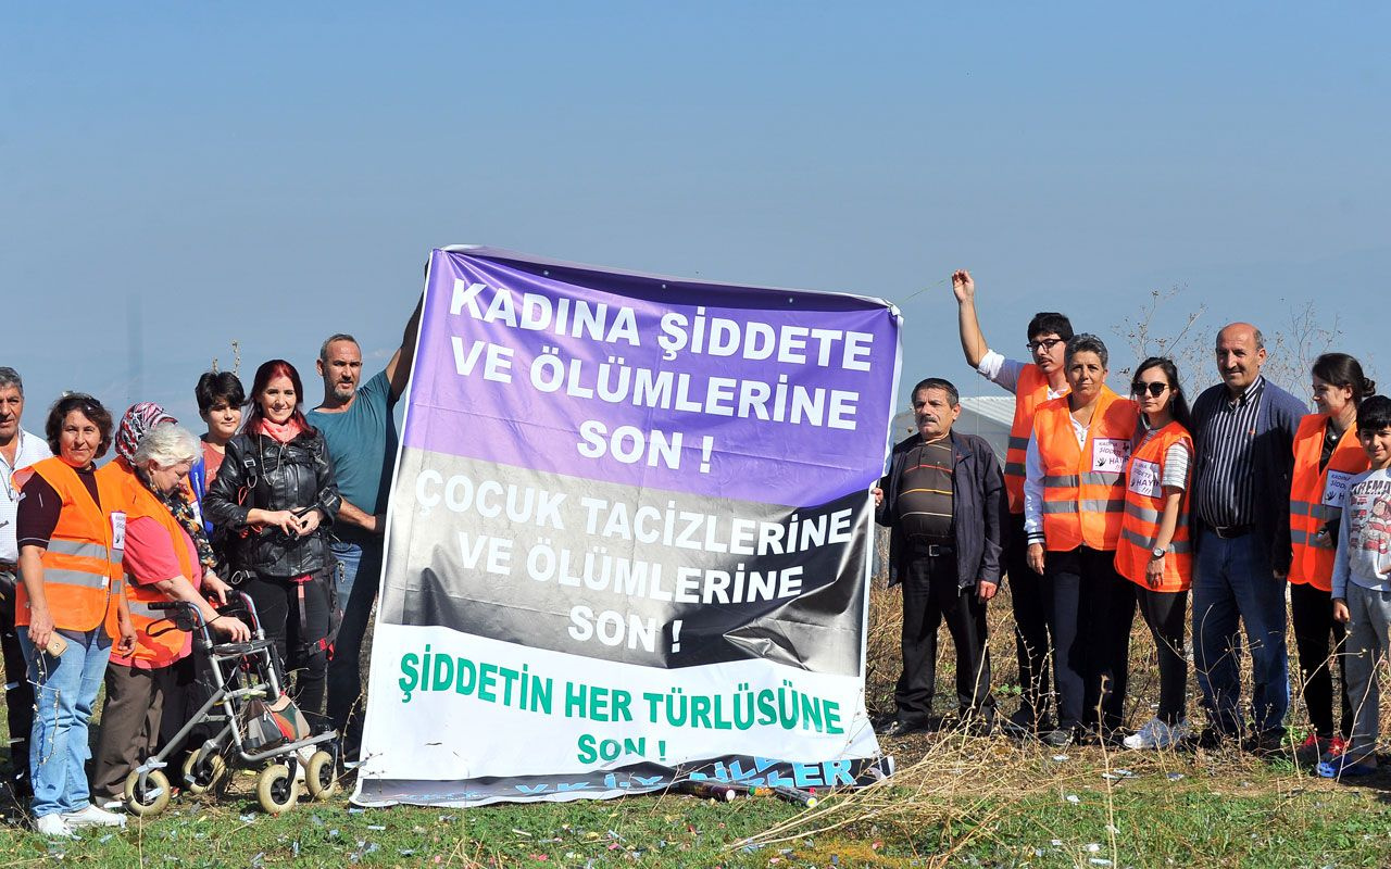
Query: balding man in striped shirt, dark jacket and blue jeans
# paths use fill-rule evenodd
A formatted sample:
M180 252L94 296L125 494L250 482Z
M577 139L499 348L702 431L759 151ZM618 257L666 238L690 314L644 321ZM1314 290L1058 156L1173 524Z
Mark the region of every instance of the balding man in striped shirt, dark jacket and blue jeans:
M1251 649L1252 713L1245 748L1281 749L1289 708L1285 574L1289 482L1303 403L1260 374L1266 342L1255 325L1217 332L1223 382L1193 402L1193 669L1207 709L1200 744L1241 738L1238 620Z

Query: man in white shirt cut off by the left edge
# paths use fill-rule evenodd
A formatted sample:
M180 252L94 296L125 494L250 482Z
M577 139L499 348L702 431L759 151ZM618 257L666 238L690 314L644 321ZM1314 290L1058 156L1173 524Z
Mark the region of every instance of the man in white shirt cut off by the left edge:
M0 367L0 647L4 648L6 712L10 720L10 786L17 801L29 797L29 731L33 729L33 685L26 676L19 637L14 630L14 596L19 548L14 526L19 494L14 473L53 456L43 438L19 428L24 381Z

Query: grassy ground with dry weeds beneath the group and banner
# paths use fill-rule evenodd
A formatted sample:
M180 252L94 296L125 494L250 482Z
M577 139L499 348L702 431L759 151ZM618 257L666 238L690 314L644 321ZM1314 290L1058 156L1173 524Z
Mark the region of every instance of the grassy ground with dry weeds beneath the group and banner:
M992 605L1000 704L1013 710L1008 602ZM871 606L867 704L890 709L897 596ZM950 685L950 644L939 684ZM1132 644L1131 723L1157 681L1148 631ZM1295 702L1295 726L1302 710ZM1199 715L1196 699L1191 713ZM1385 719L1384 719L1385 720ZM951 731L885 744L889 786L832 795L812 809L772 798L691 797L355 809L302 802L256 808L255 779L220 801L181 797L124 833L50 844L3 808L0 866L1388 866L1391 773L1334 783L1288 759L1235 751L1059 754Z

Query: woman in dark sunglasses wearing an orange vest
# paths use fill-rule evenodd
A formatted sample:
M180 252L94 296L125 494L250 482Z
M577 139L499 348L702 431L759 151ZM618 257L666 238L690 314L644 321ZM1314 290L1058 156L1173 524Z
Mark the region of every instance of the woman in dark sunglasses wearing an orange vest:
M1171 748L1188 733L1184 656L1193 553L1187 494L1193 438L1188 400L1170 359L1149 357L1135 371L1131 393L1145 420L1125 464L1125 519L1116 546L1116 570L1136 585L1139 612L1159 652L1159 712L1125 748Z

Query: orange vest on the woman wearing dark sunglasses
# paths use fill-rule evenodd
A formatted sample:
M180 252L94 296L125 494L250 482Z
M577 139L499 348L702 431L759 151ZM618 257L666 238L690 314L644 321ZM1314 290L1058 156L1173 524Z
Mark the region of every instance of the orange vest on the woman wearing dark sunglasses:
M1125 517L1121 520L1120 542L1116 544L1116 571L1145 588L1149 588L1145 567L1149 566L1150 552L1159 539L1159 520L1164 514L1164 456L1174 444L1187 445L1189 457L1193 455L1192 435L1178 423L1170 423L1141 444L1125 466ZM1193 545L1188 530L1192 480L1189 462L1184 498L1178 502L1178 524L1164 556L1164 580L1155 591L1188 591L1193 584Z

